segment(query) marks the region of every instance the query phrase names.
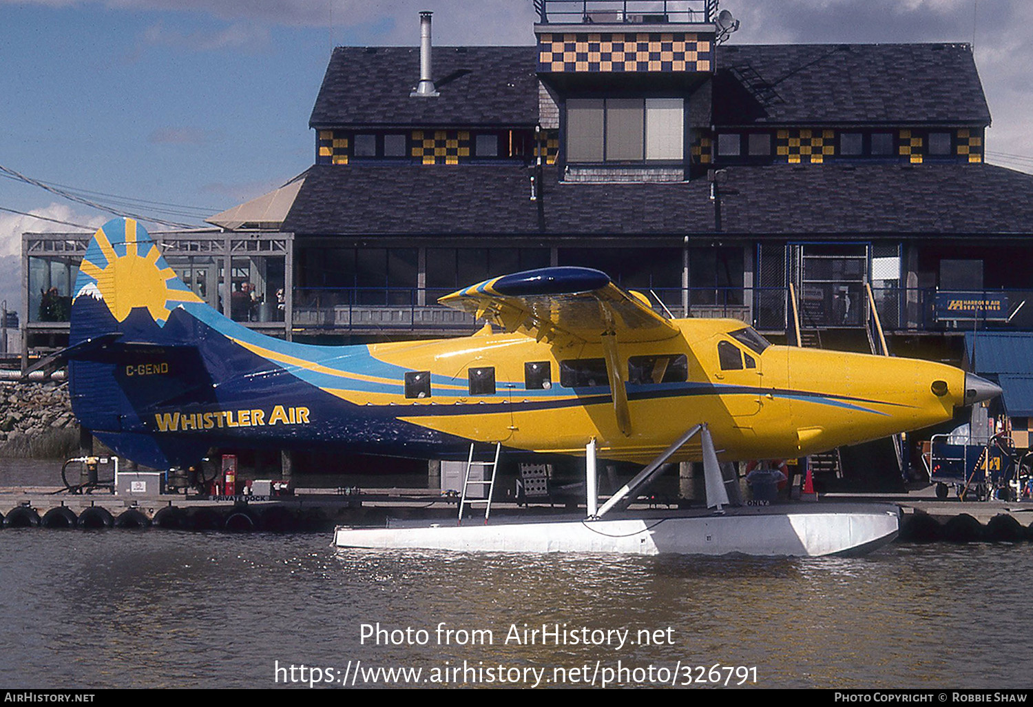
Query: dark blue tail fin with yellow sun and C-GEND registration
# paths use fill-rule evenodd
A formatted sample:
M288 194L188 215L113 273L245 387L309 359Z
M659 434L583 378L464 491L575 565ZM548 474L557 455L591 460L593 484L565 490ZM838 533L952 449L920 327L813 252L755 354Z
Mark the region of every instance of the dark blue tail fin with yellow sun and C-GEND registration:
M72 409L117 453L155 468L195 464L207 452L200 440L157 439L147 424L155 407L215 400L204 332L184 307L224 318L183 283L142 225L118 218L97 230L71 307Z

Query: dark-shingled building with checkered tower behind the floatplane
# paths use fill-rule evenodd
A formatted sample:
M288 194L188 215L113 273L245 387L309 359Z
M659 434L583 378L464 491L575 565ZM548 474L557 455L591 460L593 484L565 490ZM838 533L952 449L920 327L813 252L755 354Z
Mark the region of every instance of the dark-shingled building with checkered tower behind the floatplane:
M468 331L437 297L547 265L814 344L875 343L873 311L944 358L972 319L1033 326L1004 325L1033 178L983 161L971 47L731 45L716 2L618 4L539 2L534 47L427 42L422 83L417 47L334 51L282 223L295 336Z

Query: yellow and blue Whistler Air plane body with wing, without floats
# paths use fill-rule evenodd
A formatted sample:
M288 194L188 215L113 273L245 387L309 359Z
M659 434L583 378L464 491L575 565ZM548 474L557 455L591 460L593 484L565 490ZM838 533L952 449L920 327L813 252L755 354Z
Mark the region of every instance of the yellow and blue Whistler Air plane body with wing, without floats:
M792 458L950 420L996 395L939 363L777 346L733 319L667 319L585 268L444 297L473 336L316 346L223 316L143 226L93 237L74 286L72 407L118 454L167 469L211 448L466 458L507 450L648 462L707 424L723 461ZM700 441L672 460L700 459Z

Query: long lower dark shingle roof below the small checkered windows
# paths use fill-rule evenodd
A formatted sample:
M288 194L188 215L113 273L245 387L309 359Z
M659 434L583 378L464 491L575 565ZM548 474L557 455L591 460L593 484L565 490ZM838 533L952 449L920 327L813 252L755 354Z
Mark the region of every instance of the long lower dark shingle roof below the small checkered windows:
M715 232L705 179L559 184L539 202L507 165L316 165L284 230L300 236L674 236ZM1028 235L1033 176L990 164L732 166L721 230L747 237Z

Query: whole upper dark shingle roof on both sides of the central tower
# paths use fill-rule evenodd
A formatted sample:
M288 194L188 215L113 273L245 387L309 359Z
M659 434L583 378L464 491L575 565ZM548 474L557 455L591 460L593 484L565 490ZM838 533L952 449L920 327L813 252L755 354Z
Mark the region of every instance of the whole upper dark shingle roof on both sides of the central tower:
M309 124L534 125L534 47L435 47L440 96L412 98L415 47L339 47ZM718 126L990 123L968 44L722 44Z

